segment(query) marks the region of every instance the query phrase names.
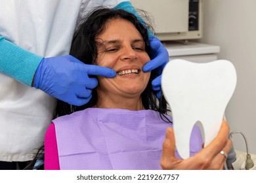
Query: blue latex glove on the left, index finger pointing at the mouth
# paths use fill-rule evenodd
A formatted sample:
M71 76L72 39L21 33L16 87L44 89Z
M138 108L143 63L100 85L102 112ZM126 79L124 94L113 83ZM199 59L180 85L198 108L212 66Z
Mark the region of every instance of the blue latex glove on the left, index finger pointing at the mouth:
M107 67L86 65L73 56L43 58L35 72L33 87L71 105L81 106L91 99L98 85L96 77L114 77L116 72Z

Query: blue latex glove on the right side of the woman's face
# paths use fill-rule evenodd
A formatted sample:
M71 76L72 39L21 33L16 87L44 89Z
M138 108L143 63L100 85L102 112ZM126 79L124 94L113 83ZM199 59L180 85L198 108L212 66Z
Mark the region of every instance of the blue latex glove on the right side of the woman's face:
M168 63L169 61L169 54L166 50L166 48L161 44L161 41L157 39L156 37L150 38L150 48L152 50L152 60L148 61L142 68L144 72L152 71L154 69L157 69L158 71L158 77L156 77L152 81L152 88L155 90L156 97L160 99L161 97L161 72L163 71L163 67Z

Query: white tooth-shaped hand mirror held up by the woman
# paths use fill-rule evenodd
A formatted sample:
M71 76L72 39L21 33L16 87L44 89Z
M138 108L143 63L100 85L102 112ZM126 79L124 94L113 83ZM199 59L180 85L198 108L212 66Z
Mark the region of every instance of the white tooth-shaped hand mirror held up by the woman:
M236 69L224 59L208 63L173 59L163 69L161 88L173 114L177 150L186 159L196 122L202 124L205 146L219 132L236 88Z

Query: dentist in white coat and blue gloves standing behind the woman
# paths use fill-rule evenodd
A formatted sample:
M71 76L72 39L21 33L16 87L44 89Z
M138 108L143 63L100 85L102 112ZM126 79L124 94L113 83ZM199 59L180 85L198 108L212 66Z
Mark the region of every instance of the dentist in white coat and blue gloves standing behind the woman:
M17 169L17 165L23 169L35 157L53 118L56 98L84 105L98 84L96 75L116 76L112 69L85 65L69 55L77 22L100 5L135 12L129 1L121 0L2 1L0 169ZM143 70L158 68L152 86L159 97L161 71L169 56L154 36L150 46L154 59Z

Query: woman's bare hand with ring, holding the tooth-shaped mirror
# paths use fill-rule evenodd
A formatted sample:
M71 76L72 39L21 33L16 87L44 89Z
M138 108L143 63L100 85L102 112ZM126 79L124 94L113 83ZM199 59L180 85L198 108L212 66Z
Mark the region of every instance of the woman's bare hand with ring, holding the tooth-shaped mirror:
M232 146L232 142L228 139L228 136L229 126L223 120L217 137L208 146L188 159L177 159L175 158L175 137L173 129L169 127L167 128L165 141L163 142L161 167L162 169L221 170L224 167L226 157L220 152L223 150L223 152L228 154Z

